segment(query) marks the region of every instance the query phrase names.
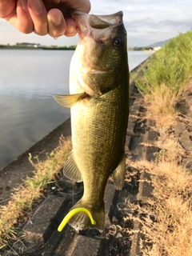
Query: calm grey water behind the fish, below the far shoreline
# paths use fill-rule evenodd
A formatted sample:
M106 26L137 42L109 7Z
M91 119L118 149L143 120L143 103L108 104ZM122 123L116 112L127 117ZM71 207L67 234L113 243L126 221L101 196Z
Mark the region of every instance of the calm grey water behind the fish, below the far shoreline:
M70 117L52 94L69 92L73 53L0 50L0 169ZM129 52L130 70L150 54Z

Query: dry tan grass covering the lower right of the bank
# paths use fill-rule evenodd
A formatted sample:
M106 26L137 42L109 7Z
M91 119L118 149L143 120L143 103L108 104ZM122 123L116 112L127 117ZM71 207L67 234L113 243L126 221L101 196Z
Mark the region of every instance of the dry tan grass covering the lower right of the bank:
M165 117L159 115L158 118ZM190 256L192 255L192 175L182 165L186 151L182 149L178 138L174 133L170 133L169 129L161 127L158 132L160 139L156 146L162 150L156 154L156 161L132 163L132 166L138 170L145 170L152 175L151 183L154 187L154 198L147 206L136 209L140 216L142 215L142 219L139 219L142 223L140 232L144 234L144 239L140 241L142 254L143 256ZM192 152L190 154L192 155ZM135 206L131 207L134 209Z

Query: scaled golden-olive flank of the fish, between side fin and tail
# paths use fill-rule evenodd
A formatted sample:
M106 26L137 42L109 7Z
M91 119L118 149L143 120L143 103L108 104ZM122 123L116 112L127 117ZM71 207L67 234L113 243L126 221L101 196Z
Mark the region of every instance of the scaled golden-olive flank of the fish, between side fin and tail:
M82 171L84 197L95 207L99 206L106 181L124 152L122 138L126 136L127 85L118 86L102 98L106 100L92 98L87 104L78 102L71 109L74 158Z

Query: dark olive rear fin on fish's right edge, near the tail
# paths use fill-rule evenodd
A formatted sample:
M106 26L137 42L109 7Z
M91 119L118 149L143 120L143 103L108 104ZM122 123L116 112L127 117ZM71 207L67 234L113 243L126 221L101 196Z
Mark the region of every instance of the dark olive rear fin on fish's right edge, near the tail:
M125 173L126 173L126 157L122 156L122 160L119 163L118 167L114 170L112 174L112 178L114 180L114 186L116 190L122 190L122 186L125 181Z

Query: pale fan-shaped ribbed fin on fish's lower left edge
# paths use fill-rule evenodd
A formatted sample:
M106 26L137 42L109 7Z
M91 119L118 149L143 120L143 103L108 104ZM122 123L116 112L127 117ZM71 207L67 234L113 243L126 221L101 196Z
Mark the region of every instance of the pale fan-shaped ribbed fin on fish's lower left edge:
M70 157L66 160L66 164L63 168L63 174L66 178L70 178L74 182L82 182L82 174L78 170L78 166L74 161L74 154L71 152Z

